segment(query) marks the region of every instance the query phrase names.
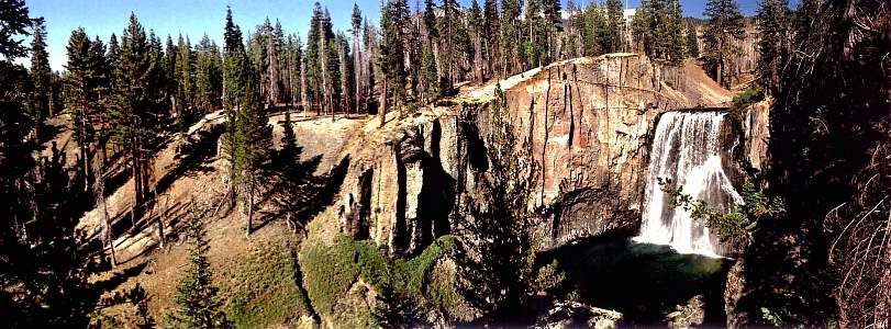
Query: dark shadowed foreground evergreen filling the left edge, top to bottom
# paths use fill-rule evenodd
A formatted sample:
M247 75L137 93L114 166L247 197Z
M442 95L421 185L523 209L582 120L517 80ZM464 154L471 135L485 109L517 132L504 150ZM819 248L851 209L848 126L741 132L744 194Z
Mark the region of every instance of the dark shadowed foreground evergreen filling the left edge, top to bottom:
M0 2L0 313L11 328L86 327L97 297L87 277L97 269L75 227L70 205L80 195L56 148L33 157L37 143L27 104L32 77L13 60L27 50L33 20L24 1Z

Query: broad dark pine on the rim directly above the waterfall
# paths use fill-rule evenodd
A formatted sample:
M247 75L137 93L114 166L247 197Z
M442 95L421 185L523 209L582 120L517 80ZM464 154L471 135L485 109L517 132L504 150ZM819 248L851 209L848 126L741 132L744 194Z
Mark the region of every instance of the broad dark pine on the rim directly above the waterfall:
M703 14L708 18L702 31L703 57L721 86L728 86L727 65L737 52L734 41L745 36L743 14L736 0L709 0Z

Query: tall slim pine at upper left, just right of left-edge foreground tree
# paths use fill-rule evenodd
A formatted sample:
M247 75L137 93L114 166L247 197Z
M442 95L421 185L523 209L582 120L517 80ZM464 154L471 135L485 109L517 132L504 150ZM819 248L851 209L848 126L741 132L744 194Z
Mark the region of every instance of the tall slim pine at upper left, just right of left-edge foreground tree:
M49 69L49 55L46 53L46 27L43 21L38 20L34 23L33 35L31 41L31 81L34 84L32 111L35 118L35 132L40 139L43 122L54 115L49 106L52 70Z

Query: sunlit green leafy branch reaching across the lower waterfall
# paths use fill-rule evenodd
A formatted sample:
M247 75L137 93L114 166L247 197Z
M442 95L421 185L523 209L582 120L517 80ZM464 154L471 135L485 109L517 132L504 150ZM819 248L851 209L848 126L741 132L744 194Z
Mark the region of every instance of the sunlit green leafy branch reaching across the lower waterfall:
M786 205L781 198L767 197L751 182L743 185L740 193L743 204L735 205L728 212L715 208L704 201L694 200L669 180L659 179L659 185L662 186L662 192L668 194L672 206L690 212L693 219L703 220L721 240L734 245L750 241L751 231L765 218L780 218L786 214Z

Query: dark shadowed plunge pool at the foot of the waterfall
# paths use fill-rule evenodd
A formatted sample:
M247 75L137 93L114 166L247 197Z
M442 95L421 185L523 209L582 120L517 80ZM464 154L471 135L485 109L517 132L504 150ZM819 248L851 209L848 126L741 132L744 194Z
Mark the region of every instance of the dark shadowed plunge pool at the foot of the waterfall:
M697 295L705 300L705 325L724 324L724 281L732 260L680 254L625 237L577 241L542 253L538 261L555 259L567 275L564 292L621 311L624 325L661 325L676 305Z

